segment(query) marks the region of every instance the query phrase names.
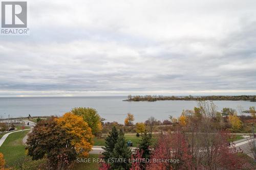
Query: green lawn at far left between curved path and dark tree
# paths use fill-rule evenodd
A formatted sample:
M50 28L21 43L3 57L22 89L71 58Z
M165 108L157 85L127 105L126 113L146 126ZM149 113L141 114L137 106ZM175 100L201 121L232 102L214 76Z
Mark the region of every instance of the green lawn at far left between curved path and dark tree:
M25 155L25 145L22 139L28 132L29 130L10 134L0 147L0 152L4 154L6 165L14 165L16 160Z

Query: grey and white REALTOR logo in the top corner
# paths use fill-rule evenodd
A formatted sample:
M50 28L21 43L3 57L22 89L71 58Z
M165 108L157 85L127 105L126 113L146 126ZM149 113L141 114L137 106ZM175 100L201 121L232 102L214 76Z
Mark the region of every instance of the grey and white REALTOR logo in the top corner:
M1 2L1 34L2 35L27 35L28 8L25 1ZM14 29L17 28L17 29ZM25 28L25 29L24 29Z

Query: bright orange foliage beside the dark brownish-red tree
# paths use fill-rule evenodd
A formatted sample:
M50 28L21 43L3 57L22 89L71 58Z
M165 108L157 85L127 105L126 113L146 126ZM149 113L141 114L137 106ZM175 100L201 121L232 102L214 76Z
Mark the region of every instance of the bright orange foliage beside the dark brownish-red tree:
M66 113L62 117L56 118L56 121L71 136L71 145L76 149L76 152L79 155L88 156L92 149L92 138L94 136L82 116Z

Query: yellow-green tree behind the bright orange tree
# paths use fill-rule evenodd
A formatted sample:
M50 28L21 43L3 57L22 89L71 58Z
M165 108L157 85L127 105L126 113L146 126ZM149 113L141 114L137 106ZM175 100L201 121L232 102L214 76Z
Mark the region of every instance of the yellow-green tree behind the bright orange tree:
M86 122L92 129L93 135L97 135L102 130L101 117L97 110L93 108L78 107L71 110L71 113L82 116L84 122Z

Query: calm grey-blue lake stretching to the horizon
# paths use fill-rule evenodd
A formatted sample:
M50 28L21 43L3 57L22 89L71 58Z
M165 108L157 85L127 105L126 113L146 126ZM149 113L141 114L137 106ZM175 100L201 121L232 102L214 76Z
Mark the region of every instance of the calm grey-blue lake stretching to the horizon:
M0 98L0 116L49 116L62 115L74 107L93 107L107 122L123 123L125 114L134 114L135 122L144 122L154 116L158 120L168 115L178 117L183 109L193 109L196 101L157 101L157 102L123 102L126 97L60 97L60 98ZM248 110L256 107L255 102L246 101L214 101L218 110L223 107L237 109L242 106ZM4 114L7 113L7 114Z

